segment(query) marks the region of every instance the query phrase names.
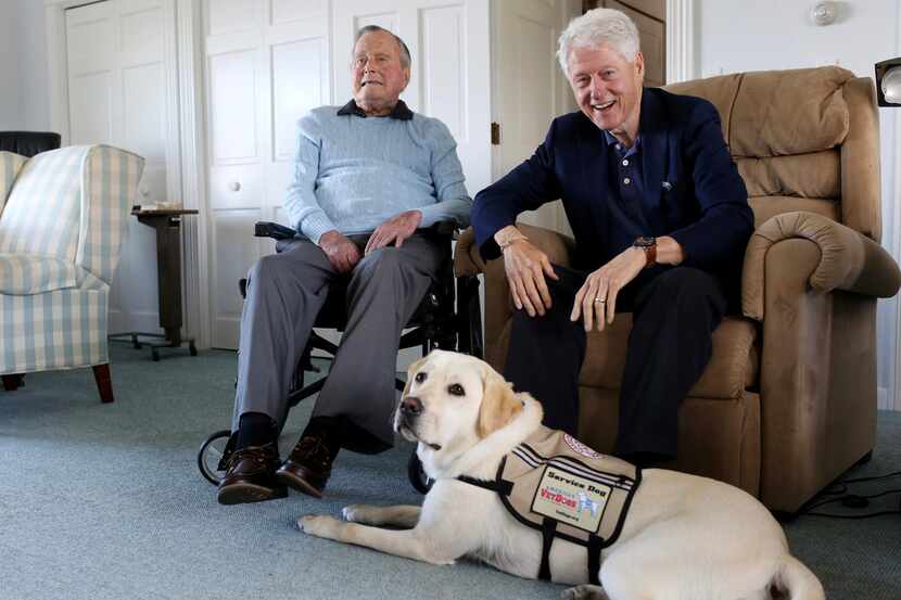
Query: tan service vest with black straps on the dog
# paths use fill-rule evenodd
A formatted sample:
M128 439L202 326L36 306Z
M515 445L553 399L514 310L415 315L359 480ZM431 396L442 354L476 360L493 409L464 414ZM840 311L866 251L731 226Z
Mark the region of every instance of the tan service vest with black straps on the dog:
M550 579L550 547L559 537L585 546L597 584L600 550L619 537L642 471L541 426L502 459L495 481L457 478L496 492L520 523L542 532L540 579Z

